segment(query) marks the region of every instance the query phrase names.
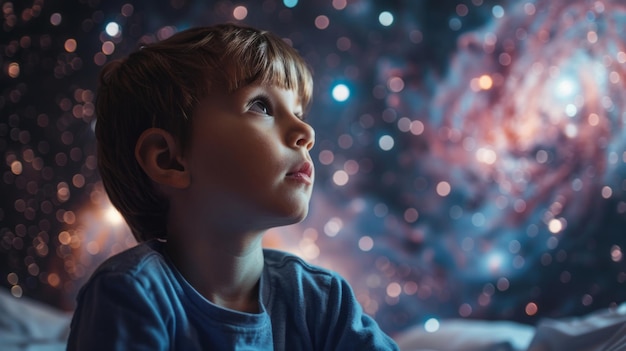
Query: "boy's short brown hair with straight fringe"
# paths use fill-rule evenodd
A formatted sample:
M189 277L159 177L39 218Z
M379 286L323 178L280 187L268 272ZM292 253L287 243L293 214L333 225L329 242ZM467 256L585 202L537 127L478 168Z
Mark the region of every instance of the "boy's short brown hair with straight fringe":
M137 241L167 237L168 199L135 159L146 129L170 132L184 150L199 100L253 82L295 90L306 108L313 90L302 57L278 36L233 24L188 29L110 62L96 101L98 168L113 205Z

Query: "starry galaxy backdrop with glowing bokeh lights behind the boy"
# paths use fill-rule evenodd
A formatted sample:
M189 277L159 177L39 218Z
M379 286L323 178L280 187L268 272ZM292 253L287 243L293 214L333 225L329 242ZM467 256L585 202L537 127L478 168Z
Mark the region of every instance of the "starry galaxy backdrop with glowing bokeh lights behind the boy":
M389 333L626 301L623 2L4 0L2 16L0 284L16 297L71 311L135 245L96 171L102 65L236 22L315 76L310 215L266 246L340 272Z

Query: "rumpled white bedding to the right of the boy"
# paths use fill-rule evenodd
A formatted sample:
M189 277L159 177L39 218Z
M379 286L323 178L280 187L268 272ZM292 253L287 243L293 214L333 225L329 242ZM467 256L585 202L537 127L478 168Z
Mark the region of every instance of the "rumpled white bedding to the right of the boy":
M436 332L418 326L395 339L403 351L622 351L626 350L626 303L584 317L545 319L537 327L444 320Z

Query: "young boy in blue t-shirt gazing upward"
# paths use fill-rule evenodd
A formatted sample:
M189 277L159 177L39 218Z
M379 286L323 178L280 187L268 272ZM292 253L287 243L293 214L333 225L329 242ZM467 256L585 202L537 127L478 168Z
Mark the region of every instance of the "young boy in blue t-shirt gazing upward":
M277 36L180 32L110 63L99 167L140 244L83 287L68 350L395 350L336 273L261 246L304 219L312 78Z

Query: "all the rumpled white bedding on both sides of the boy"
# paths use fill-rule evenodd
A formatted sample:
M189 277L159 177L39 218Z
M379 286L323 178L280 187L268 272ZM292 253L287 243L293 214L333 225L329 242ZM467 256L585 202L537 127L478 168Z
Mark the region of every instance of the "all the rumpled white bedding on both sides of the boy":
M71 314L0 289L0 348L61 351ZM537 327L507 321L449 319L439 329L409 328L395 336L403 351L622 351L626 303L580 317L544 320Z

